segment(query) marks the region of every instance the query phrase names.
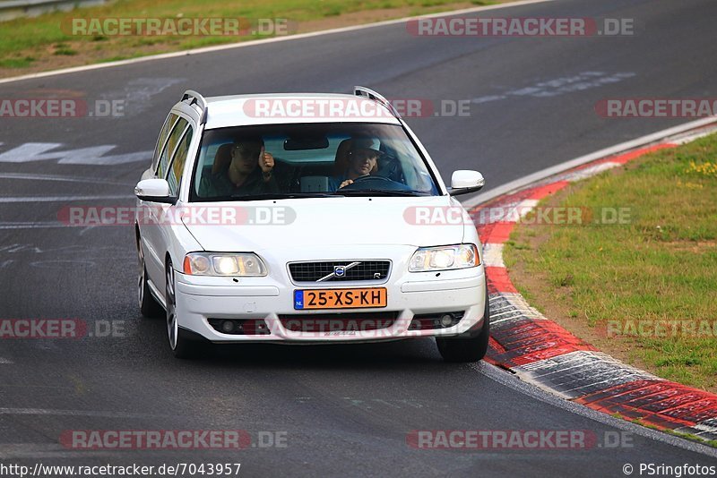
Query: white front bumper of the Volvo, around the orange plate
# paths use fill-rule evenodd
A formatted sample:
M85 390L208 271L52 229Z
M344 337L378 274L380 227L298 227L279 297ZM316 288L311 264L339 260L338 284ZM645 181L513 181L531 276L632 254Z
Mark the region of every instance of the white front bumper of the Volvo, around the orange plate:
M406 273L395 280L376 286L387 290L384 308L342 309L340 311L296 311L293 292L298 288L367 287L358 283L332 283L321 286L295 286L272 277L195 277L177 271L177 319L179 327L217 343L337 343L378 342L411 337L474 336L483 325L486 286L483 266L471 269ZM379 329L333 329L331 320L341 314L360 316L385 312L394 317L391 324ZM462 312L462 319L443 329L414 329L416 315ZM286 327L287 318L309 320L320 325L312 331ZM233 335L217 331L210 320L263 320L268 330L261 335ZM325 326L325 327L324 327Z

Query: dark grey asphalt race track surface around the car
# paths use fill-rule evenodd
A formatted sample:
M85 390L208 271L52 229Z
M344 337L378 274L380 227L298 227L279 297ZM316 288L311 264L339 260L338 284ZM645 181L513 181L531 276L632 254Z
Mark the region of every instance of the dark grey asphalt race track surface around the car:
M77 318L95 331L113 322L124 335L0 341L3 464L229 462L241 463L244 476L620 476L626 463L634 474L639 463L717 465L713 451L563 403L487 364L443 363L430 340L222 347L177 361L163 321L137 310L132 228L51 224L70 204L132 205L146 161L83 164L102 155L78 149L152 149L189 88L213 96L362 84L393 98L470 99L468 116L409 122L445 179L476 168L488 187L685 121L603 119L594 110L602 98L717 95L713 0L556 1L490 15L635 18L638 28L619 38L417 38L396 24L0 84L0 98L66 90L125 101L122 117L0 120L0 318ZM17 149L28 143L61 143L55 151L66 154L28 160ZM59 443L73 430L235 429L254 440L285 433L287 446L97 451ZM626 432L631 446L415 449L407 433L416 430Z

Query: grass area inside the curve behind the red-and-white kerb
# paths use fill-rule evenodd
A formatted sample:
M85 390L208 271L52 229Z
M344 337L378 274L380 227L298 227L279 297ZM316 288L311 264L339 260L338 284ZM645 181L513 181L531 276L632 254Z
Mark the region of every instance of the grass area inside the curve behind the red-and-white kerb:
M541 201L579 208L582 224L517 226L505 248L514 283L600 350L717 392L716 158L713 134ZM601 220L619 209L624 224Z

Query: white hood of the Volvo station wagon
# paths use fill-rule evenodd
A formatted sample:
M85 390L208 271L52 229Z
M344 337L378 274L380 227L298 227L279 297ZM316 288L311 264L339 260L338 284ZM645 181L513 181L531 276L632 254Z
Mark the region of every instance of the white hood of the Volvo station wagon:
M197 205L193 203L185 208L194 209ZM181 215L182 222L203 249L212 252L260 252L344 244L444 245L461 243L463 228L473 227L465 214L457 219L462 207L449 196L338 196L202 203L202 207L220 209L213 212L223 214L223 219L205 224L202 219L185 213ZM445 220L446 215L452 219Z

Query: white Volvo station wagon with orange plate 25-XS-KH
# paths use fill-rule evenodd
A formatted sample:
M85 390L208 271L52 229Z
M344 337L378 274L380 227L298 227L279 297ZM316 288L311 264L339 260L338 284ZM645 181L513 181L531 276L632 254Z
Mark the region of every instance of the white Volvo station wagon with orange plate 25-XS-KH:
M435 337L488 348L479 236L396 109L375 91L203 98L169 113L134 192L143 315L177 357L204 343Z

